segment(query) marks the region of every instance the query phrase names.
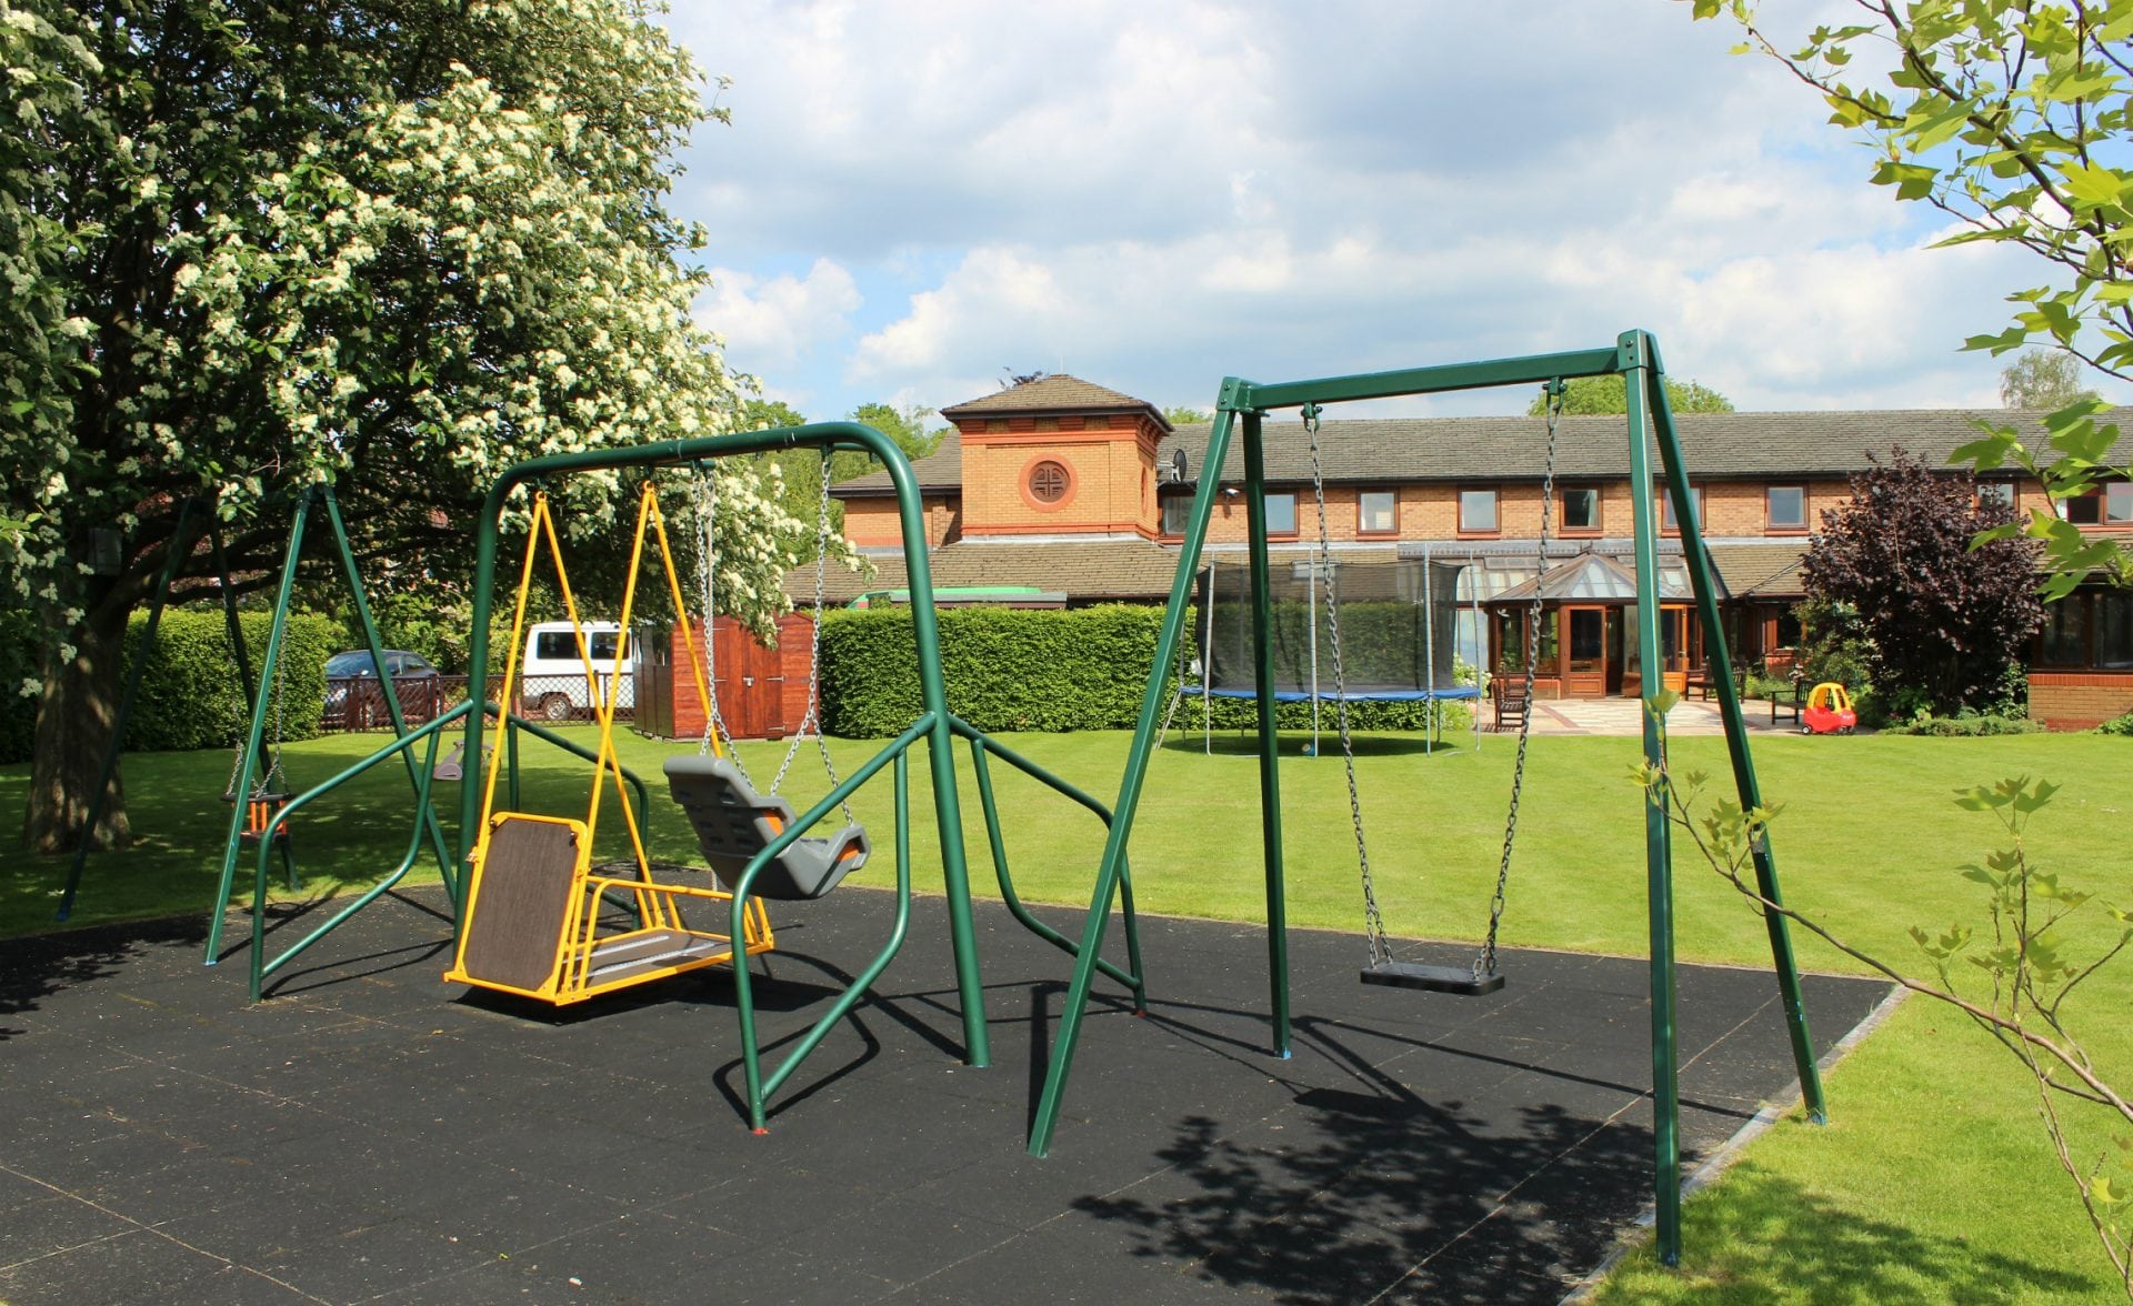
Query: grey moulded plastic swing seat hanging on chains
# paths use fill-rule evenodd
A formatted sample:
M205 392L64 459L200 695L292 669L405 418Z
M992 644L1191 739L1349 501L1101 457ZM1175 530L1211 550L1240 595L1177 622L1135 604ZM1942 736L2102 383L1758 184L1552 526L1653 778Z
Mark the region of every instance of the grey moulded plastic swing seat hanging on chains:
M727 890L740 883L755 854L793 824L789 802L757 794L725 758L668 758L665 775L674 802L695 826L704 860ZM864 866L870 849L860 824L830 839L796 839L764 866L749 892L787 903L819 898Z

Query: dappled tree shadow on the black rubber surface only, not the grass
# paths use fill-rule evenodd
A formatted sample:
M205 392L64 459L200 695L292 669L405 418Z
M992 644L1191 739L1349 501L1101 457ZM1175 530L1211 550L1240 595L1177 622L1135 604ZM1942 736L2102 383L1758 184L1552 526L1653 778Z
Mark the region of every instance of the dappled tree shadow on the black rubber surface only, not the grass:
M1651 1131L1314 1088L1278 1129L1218 1137L1188 1116L1171 1172L1075 1206L1133 1255L1276 1302L1555 1302L1595 1265L1651 1182Z

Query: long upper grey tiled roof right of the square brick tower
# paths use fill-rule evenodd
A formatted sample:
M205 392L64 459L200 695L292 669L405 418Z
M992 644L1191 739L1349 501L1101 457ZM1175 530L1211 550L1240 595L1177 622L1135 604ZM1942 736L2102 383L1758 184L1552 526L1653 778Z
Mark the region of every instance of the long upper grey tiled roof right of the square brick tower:
M1866 455L1888 457L1894 446L1945 465L1956 446L1979 437L1971 418L2024 425L2031 448L2041 448L2041 414L2007 410L1879 410L1879 412L1685 412L1674 416L1681 455L1691 480L1766 476L1847 476L1864 469ZM2101 420L2129 423L2118 408ZM1327 420L1318 435L1327 480L1527 480L1546 469L1549 427L1534 416L1485 418L1359 418ZM1186 450L1188 478L1199 476L1207 427L1177 427L1156 450L1167 465L1173 448ZM1653 469L1659 459L1653 452ZM1566 416L1557 437L1555 474L1606 478L1630 472L1621 416ZM1308 484L1310 444L1290 414L1267 418L1267 478ZM1222 480L1244 480L1241 431L1231 442Z

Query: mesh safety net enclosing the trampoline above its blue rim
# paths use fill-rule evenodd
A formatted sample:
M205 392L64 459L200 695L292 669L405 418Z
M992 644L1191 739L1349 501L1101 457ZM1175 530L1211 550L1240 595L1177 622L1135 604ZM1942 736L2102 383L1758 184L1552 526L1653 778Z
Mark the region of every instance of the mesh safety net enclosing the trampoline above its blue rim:
M1318 698L1333 698L1329 604L1337 604L1348 698L1474 696L1453 679L1461 570L1423 559L1278 559L1269 617L1276 694L1297 698L1316 689ZM1250 568L1203 572L1199 589L1207 610L1199 634L1209 689L1256 691Z

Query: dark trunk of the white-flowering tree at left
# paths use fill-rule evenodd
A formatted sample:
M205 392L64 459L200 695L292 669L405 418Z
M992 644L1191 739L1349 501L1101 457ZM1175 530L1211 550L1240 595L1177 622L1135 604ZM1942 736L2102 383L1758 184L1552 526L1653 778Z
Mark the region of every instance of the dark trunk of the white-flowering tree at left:
M75 627L75 655L45 651L45 689L36 702L30 747L30 802L23 845L34 854L68 854L83 839L96 777L117 726L126 683L126 617L130 604L102 602ZM53 615L55 617L55 615ZM126 790L117 770L105 796L92 849L126 847Z

